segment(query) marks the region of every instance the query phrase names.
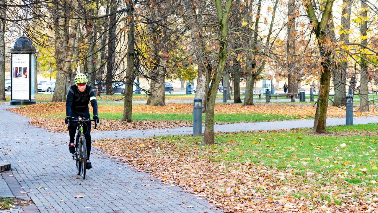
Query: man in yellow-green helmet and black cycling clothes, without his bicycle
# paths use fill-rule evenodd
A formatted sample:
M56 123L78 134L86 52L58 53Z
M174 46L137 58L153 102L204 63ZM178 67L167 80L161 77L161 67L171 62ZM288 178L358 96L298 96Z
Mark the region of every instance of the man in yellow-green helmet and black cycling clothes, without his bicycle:
M65 123L68 124L70 117L75 117L76 119L81 117L90 118L88 103L91 102L93 108L93 119L99 122L97 114L97 100L96 94L92 87L87 85L88 78L85 74L79 73L75 77L75 84L71 86L68 90L67 101L66 101L66 115ZM87 169L92 168L92 164L89 161L89 155L91 152L91 122L85 122L83 133L85 141L87 144ZM68 144L68 149L70 153L75 153L75 133L77 129L77 122L71 122L68 132L70 133L70 143Z

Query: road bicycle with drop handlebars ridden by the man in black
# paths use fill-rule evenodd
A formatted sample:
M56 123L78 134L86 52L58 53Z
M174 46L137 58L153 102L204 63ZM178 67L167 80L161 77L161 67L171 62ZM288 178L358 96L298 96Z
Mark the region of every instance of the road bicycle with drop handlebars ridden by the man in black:
M68 128L70 128L70 122L78 122L79 125L77 125L77 130L76 130L76 143L75 143L75 153L72 154L72 159L76 161L76 172L78 175L81 174L83 179L85 179L85 171L87 170L87 143L85 142L84 138L84 127L83 125L85 124L86 121L93 121L95 122L95 129L97 128L97 122L96 120L91 120L89 118L85 117L70 117L70 119L74 119L73 121L68 121Z

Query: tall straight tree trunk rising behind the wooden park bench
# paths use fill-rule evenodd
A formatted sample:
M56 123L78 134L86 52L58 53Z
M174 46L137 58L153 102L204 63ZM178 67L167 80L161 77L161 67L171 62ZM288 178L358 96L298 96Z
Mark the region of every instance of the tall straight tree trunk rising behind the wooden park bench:
M295 54L295 40L296 40L296 30L295 30L295 16L294 16L294 5L295 0L288 1L288 24L287 24L287 55ZM296 64L294 56L287 56L287 68L288 68L288 93L297 92L297 75L296 75Z

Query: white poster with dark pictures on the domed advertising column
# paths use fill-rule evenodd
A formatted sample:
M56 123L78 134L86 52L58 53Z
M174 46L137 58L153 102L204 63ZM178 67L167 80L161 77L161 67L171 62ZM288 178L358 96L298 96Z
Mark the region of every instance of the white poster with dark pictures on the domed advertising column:
M29 54L12 55L12 99L29 99Z

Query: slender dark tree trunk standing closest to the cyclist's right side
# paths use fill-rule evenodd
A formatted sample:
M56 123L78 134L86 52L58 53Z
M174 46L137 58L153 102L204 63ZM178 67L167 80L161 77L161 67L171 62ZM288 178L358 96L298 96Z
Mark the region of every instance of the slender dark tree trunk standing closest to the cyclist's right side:
M135 79L134 64L134 7L133 1L129 1L129 25L130 29L127 34L127 68L126 68L126 85L125 85L125 103L123 108L122 121L132 121L132 102L133 102L133 82Z

